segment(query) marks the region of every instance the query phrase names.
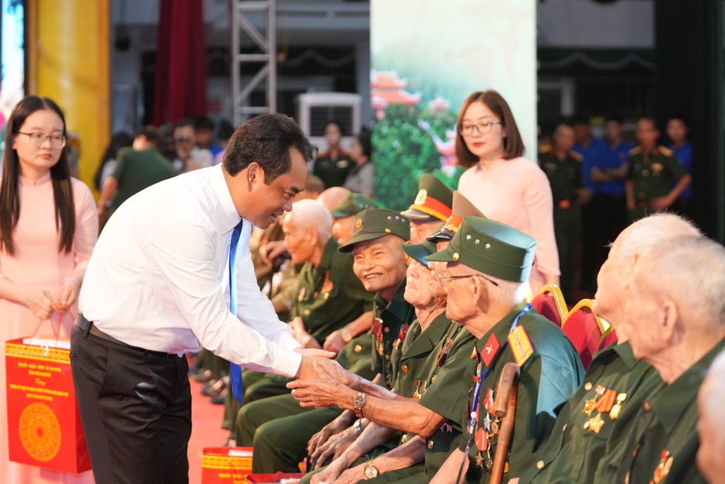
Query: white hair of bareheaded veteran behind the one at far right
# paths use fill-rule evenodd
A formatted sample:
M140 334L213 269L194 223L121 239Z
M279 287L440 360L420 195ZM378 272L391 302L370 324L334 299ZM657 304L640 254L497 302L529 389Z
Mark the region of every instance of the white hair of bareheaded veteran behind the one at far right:
M669 238L701 235L692 221L676 214L658 212L637 220L619 235L618 259L622 262L635 254L645 254Z

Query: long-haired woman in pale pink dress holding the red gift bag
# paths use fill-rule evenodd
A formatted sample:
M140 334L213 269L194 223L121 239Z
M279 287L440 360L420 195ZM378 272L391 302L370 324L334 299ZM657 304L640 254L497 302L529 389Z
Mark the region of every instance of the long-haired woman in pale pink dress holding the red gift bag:
M91 191L70 178L65 135L63 113L47 98L26 97L8 121L0 178L0 341L28 337L43 321L36 337L56 330L70 338L98 216ZM41 476L39 467L7 461L6 391L0 358L0 482L92 482L90 472Z

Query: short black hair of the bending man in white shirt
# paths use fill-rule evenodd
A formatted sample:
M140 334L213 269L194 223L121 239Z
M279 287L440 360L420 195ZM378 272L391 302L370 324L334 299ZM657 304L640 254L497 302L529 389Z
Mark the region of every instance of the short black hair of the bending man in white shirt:
M302 154L307 163L317 156L313 146L297 122L285 114L260 114L239 126L224 153L224 168L229 175L257 162L265 172L265 183L272 183L292 167L290 150Z

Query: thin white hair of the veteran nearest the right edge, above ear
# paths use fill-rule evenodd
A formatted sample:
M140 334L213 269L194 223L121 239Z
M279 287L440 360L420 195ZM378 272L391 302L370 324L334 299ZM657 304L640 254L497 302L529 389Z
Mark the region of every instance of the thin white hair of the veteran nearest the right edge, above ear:
M642 259L650 291L679 306L705 330L725 327L725 247L706 237L677 237Z

